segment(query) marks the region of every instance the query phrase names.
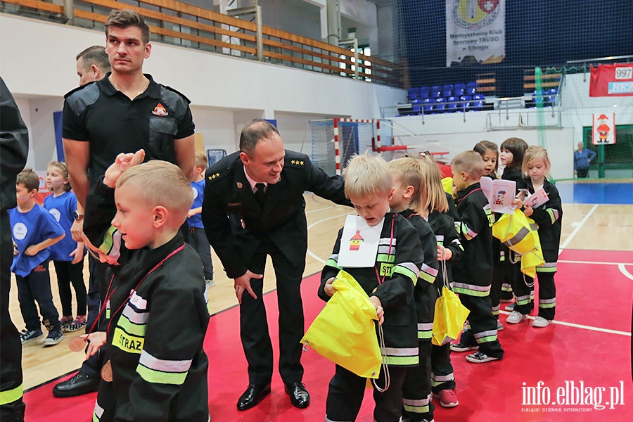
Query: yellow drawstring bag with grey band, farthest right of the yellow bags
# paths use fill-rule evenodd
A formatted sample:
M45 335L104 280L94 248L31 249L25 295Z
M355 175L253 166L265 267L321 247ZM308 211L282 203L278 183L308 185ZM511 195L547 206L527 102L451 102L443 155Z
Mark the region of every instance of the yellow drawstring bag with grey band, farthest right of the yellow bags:
M517 209L513 214L502 215L492 224L492 236L521 255L521 272L526 276L534 278L536 267L545 263L538 226L523 211Z

